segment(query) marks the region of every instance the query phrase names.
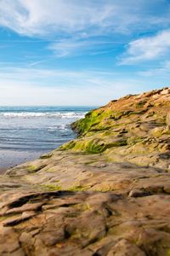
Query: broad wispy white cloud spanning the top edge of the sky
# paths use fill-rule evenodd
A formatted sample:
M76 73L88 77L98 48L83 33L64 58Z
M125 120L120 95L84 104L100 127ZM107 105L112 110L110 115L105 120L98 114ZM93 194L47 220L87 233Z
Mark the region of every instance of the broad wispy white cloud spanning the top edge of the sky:
M78 37L95 34L127 33L142 27L156 26L162 17L155 12L156 4L165 0L1 0L0 25L28 36L63 36L76 32ZM169 16L168 16L169 17ZM169 19L164 13L163 23Z

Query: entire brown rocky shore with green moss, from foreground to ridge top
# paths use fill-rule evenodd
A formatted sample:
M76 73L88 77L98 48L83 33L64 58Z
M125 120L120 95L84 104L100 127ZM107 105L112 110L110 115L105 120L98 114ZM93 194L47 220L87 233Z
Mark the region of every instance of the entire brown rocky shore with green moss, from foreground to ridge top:
M169 88L122 97L0 176L0 255L170 255L169 113Z

